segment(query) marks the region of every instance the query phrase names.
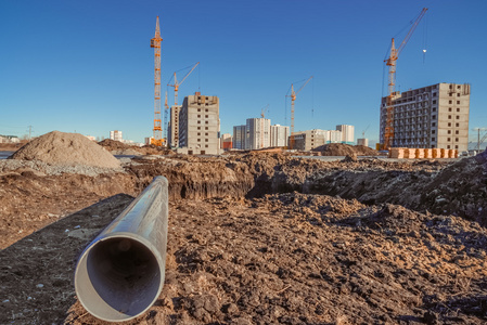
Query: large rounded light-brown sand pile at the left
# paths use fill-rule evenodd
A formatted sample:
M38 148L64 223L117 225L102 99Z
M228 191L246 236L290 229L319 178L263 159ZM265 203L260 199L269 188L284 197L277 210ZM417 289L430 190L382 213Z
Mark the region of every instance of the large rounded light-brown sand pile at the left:
M50 165L120 168L120 162L112 154L85 135L60 131L30 141L9 158L41 160Z

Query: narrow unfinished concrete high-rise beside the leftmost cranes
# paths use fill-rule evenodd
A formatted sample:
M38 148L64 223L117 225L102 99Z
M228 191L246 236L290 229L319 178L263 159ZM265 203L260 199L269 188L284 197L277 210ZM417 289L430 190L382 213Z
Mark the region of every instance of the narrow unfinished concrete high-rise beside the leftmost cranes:
M219 101L200 92L184 98L179 112L180 153L189 155L219 154Z

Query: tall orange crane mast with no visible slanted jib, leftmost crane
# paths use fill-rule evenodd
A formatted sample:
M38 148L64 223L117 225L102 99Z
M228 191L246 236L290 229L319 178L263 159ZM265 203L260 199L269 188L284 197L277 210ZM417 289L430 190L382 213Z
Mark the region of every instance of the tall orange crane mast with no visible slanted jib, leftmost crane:
M161 126L161 37L159 16L155 23L155 35L151 39L151 48L154 48L154 129L151 144L163 145L163 129Z

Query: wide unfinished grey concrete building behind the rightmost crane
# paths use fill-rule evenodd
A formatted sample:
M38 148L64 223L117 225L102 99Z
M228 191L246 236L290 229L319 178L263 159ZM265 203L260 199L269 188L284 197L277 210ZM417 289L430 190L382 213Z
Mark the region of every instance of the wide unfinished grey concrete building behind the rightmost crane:
M470 84L436 83L396 92L393 96L393 147L466 151ZM386 98L381 103L381 143L384 143Z

